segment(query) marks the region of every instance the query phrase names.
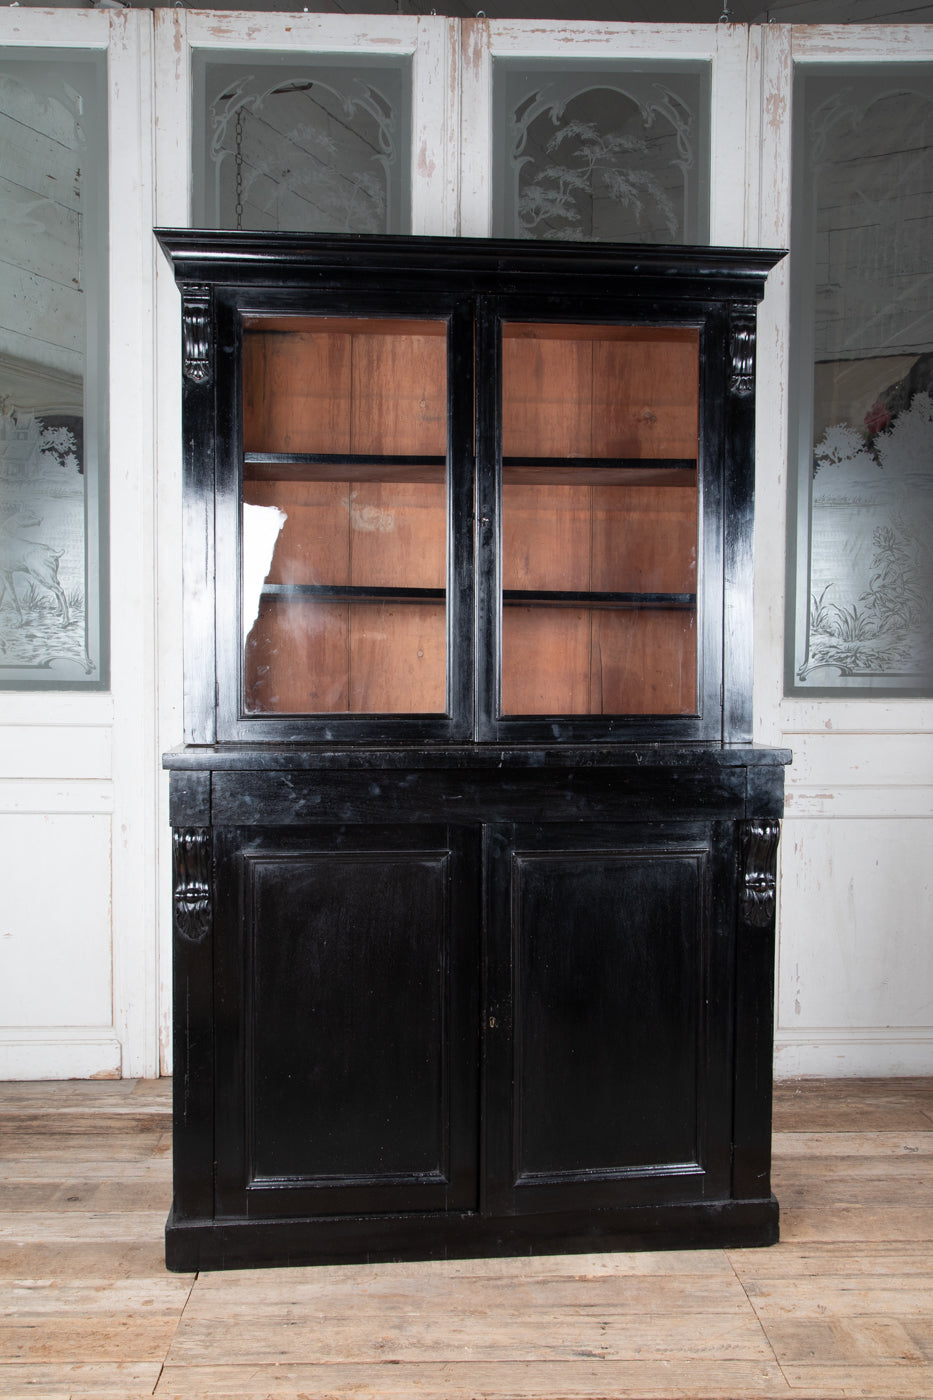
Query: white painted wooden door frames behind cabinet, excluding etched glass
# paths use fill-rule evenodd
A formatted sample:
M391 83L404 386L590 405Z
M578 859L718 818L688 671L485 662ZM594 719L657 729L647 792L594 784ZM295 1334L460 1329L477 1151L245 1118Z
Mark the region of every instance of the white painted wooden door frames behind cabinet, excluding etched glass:
M661 87L665 71L689 70L709 94L705 161L671 118L677 84L658 104L689 179L707 183L706 237L786 246L794 64L897 57L933 71L933 31L13 7L0 11L0 43L106 55L111 347L111 685L0 690L0 1075L148 1075L170 1068L160 763L181 741L182 616L179 308L151 228L192 217L198 63L247 52L269 63L282 55L289 73L305 60L336 71L347 56L361 74L382 59L402 64L409 227L471 235L495 231L497 171L510 155L496 83L509 64L545 76L615 66ZM632 94L646 111L654 101ZM930 1072L933 701L785 696L787 277L782 263L761 312L756 462L755 734L796 753L778 1072Z

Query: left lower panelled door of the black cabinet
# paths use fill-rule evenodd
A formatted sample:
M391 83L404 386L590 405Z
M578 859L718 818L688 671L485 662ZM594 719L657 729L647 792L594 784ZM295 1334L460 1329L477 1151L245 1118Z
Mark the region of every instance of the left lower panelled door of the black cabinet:
M472 1211L479 839L216 833L216 1217Z

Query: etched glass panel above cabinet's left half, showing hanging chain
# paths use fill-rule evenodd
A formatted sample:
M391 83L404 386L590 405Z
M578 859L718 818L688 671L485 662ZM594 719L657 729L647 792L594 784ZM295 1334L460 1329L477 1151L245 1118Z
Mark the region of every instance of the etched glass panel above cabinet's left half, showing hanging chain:
M196 224L408 232L408 59L196 53L193 80Z

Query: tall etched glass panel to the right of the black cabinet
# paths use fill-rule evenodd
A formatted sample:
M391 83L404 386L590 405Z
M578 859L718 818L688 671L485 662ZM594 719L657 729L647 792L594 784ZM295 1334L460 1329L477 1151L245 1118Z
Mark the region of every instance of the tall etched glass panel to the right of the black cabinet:
M794 85L789 692L933 692L933 69Z

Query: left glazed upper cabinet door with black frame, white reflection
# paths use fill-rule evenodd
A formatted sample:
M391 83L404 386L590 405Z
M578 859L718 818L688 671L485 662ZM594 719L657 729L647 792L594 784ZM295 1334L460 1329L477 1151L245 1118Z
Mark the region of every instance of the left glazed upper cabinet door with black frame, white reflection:
M469 307L217 300L219 736L469 736Z

